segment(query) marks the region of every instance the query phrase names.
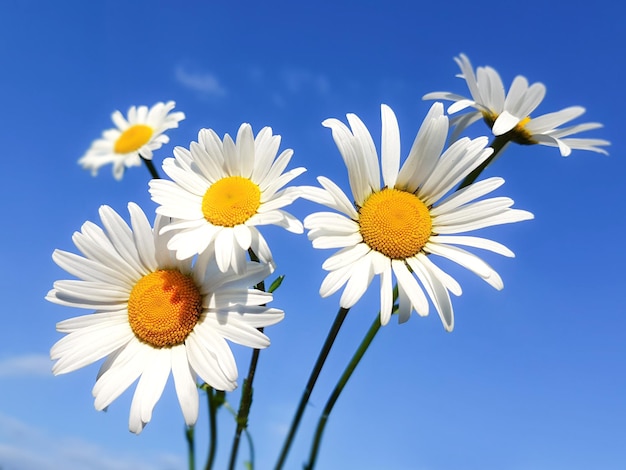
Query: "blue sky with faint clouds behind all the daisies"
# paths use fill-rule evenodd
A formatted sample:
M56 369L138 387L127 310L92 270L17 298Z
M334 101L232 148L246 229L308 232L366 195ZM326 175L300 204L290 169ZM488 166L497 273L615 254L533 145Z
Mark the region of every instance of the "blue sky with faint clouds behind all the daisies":
M428 3L428 4L427 4ZM515 259L485 254L502 275L497 292L450 264L464 288L456 326L435 314L392 321L377 337L331 416L320 469L619 470L626 468L624 250L624 47L619 2L477 0L200 2L20 1L0 8L2 90L2 261L0 289L0 467L3 470L141 469L186 465L183 420L170 383L153 421L127 430L131 393L107 413L93 408L97 365L53 377L55 323L81 312L47 303L66 274L55 248L98 221L109 204L155 205L148 172L121 182L77 164L131 105L175 100L187 119L169 133L157 164L202 127L235 134L271 126L293 148L296 182L347 177L328 117L358 114L380 134L380 104L397 113L406 155L430 103L466 94L453 57L491 65L507 87L517 74L548 89L538 112L581 105L578 122L600 121L589 137L610 156L511 147L486 175L503 176L535 220L485 235ZM482 124L472 127L485 133ZM319 210L299 201L304 218ZM320 299L323 260L306 236L264 230L287 275L274 305L285 320L268 329L250 431L259 469L271 468L302 387L332 323L338 295ZM377 285L377 282L374 286ZM376 314L375 293L350 312L312 395L287 468L301 468L314 424L352 351ZM234 347L240 375L249 351ZM238 403L238 392L229 396ZM220 413L223 468L232 420ZM206 408L198 424L206 453ZM242 446L238 468L247 456Z

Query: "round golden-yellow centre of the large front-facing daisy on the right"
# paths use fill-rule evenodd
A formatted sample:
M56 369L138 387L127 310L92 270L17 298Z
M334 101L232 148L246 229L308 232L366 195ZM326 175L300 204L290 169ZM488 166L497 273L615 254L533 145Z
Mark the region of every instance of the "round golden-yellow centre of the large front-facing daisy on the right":
M359 226L370 248L391 259L406 259L421 251L433 223L428 207L415 194L385 188L359 209Z

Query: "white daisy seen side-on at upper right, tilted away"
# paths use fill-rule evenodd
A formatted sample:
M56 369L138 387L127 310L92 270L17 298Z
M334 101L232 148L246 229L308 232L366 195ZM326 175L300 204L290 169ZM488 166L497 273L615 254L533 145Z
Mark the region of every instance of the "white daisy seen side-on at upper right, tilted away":
M530 114L535 111L546 94L545 85L537 82L529 86L528 80L518 75L513 79L507 94L500 75L493 68L478 67L474 74L467 56L461 54L454 60L461 69L461 74L458 76L465 79L472 97L466 98L449 92L433 92L423 97L425 100L454 101L448 108L450 114L468 107L474 108L474 111L456 116L451 120L451 125L455 126L453 137L482 118L491 128L494 136L506 136L509 141L518 144L558 147L564 157L570 155L572 149L607 154L606 150L601 148L601 146L610 145L610 142L606 140L569 137L583 131L600 128L602 124L588 122L559 127L581 116L585 108L571 106L531 119Z

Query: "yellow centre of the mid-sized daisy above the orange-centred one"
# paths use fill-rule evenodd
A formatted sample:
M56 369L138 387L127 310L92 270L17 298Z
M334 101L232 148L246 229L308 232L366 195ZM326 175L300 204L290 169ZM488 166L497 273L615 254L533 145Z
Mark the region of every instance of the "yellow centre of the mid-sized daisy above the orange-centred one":
M213 183L202 198L202 214L213 225L234 227L256 214L261 190L242 176L227 176Z

